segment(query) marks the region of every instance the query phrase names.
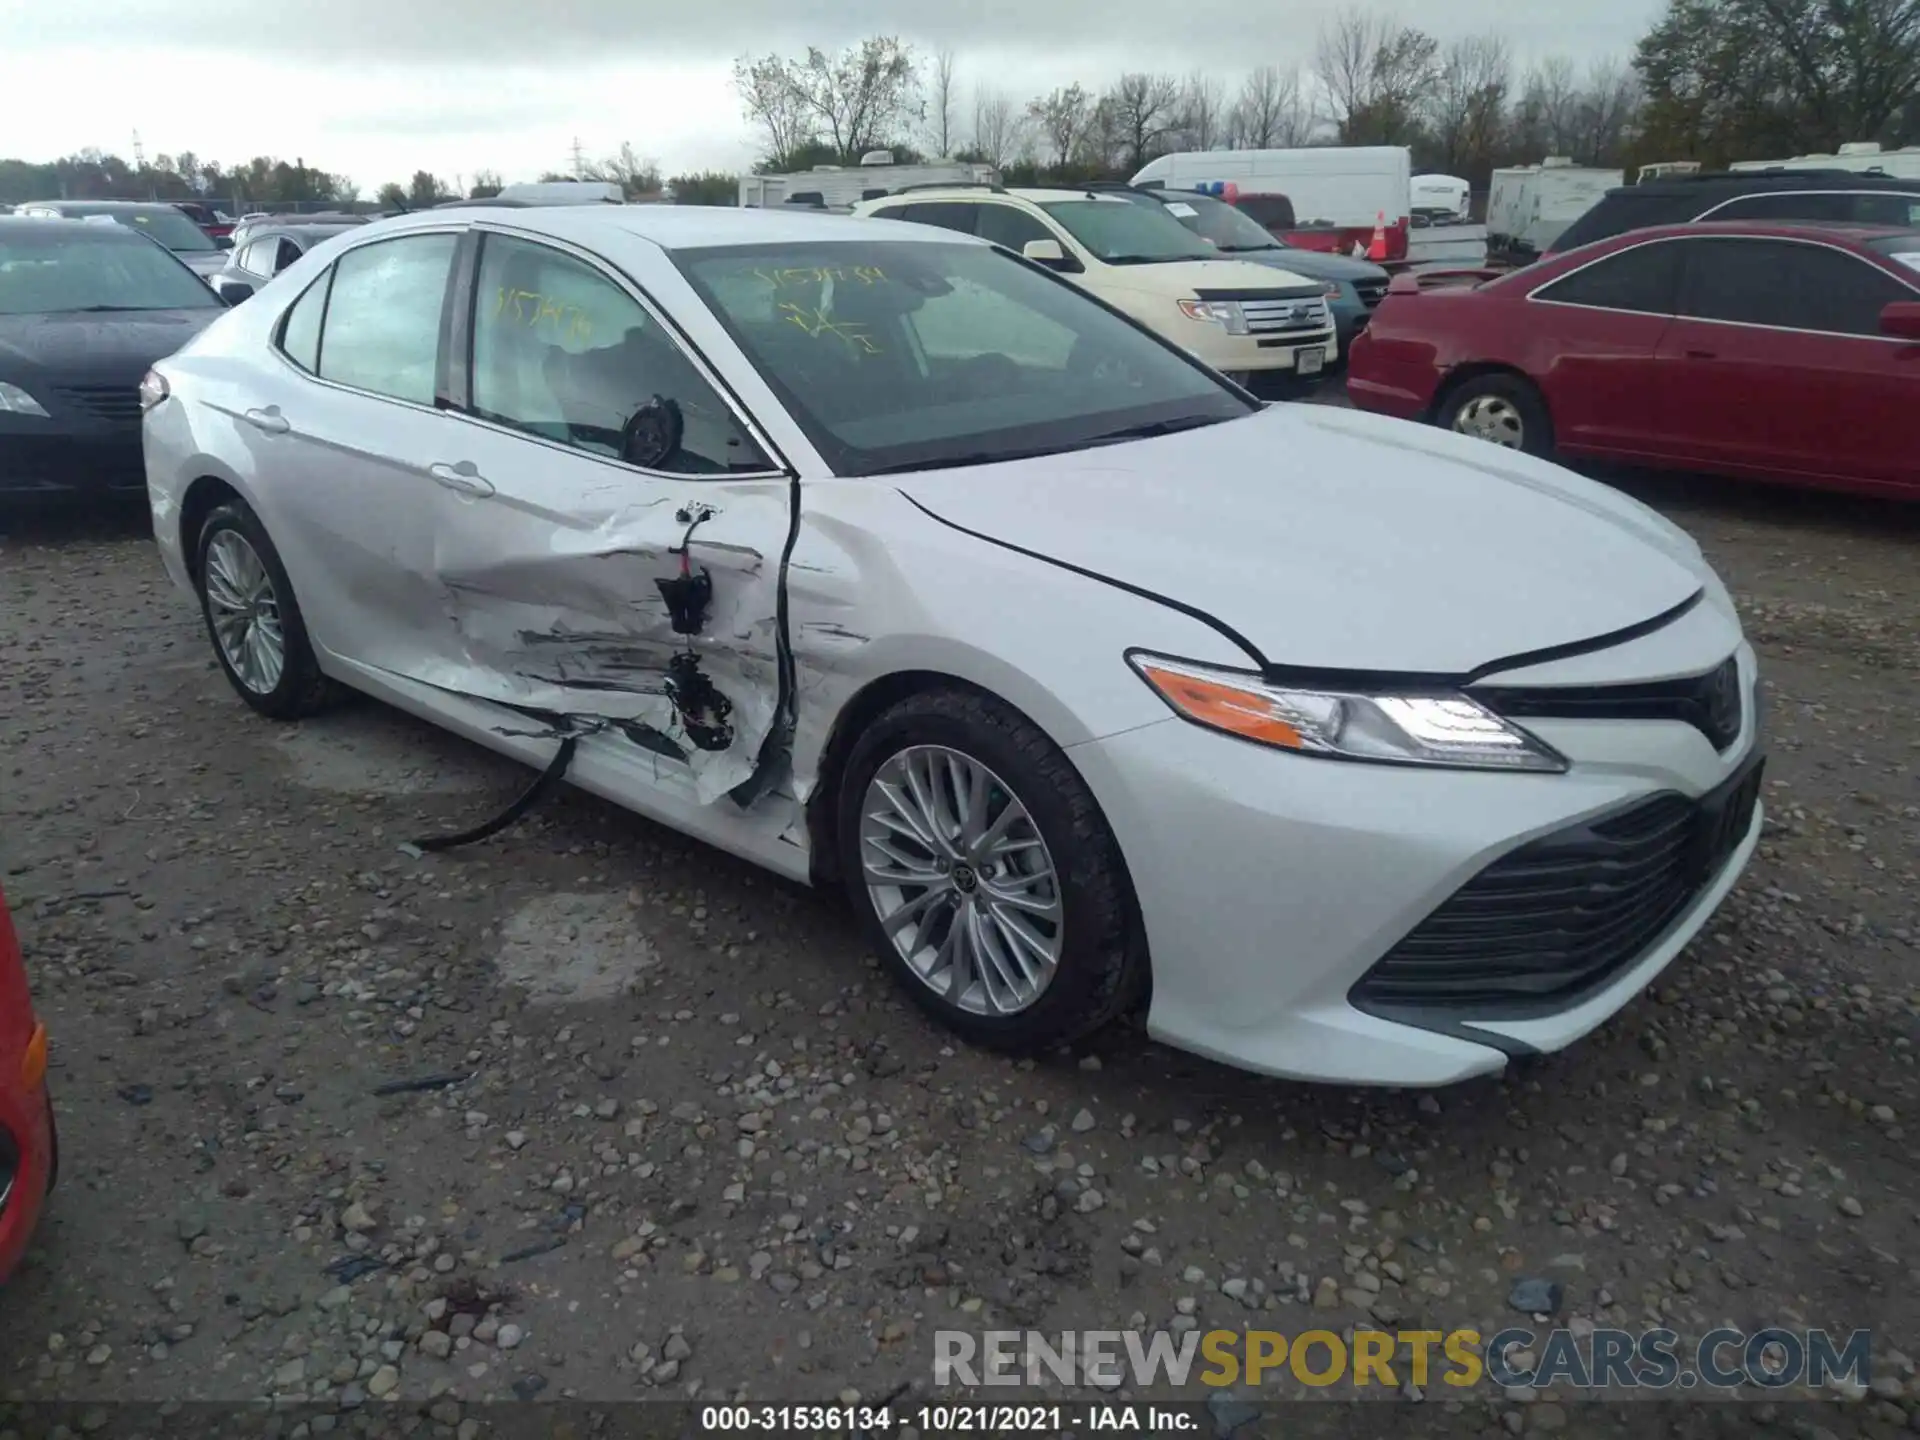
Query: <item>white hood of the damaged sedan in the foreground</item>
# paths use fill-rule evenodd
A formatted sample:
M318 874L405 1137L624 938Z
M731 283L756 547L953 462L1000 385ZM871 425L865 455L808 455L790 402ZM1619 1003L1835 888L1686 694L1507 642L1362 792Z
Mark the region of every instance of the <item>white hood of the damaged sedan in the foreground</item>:
M1444 430L1321 405L900 484L933 516L1192 607L1273 666L1463 678L1703 589L1638 501Z

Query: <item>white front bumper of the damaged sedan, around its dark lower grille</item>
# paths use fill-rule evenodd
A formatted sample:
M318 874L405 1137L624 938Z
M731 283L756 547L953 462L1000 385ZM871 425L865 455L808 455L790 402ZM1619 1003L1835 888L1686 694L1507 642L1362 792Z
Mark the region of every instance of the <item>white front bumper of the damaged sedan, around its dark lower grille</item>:
M1722 651L1724 655L1724 651ZM1745 693L1753 653L1740 649ZM1753 707L1722 755L1668 722L1528 720L1572 770L1492 774L1348 764L1260 749L1167 718L1073 747L1114 824L1154 964L1148 1031L1244 1069L1350 1085L1448 1085L1559 1050L1632 1000L1734 887L1728 858L1655 939L1549 1006L1394 1014L1352 993L1494 860L1659 793L1701 797L1757 745Z

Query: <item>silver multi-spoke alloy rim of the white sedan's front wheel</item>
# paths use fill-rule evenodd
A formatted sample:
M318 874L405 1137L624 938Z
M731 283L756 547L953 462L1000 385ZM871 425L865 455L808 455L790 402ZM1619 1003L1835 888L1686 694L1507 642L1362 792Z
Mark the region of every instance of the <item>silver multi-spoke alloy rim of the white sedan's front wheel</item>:
M1033 1006L1060 968L1060 877L1033 816L943 745L887 758L860 801L860 874L893 948L975 1016Z

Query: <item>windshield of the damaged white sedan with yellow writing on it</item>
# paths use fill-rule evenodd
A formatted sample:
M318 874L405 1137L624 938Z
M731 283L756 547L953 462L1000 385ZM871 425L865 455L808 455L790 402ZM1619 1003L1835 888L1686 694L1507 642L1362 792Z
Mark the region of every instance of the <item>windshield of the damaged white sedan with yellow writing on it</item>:
M674 261L835 474L1020 459L1254 411L1181 351L989 246L728 246Z

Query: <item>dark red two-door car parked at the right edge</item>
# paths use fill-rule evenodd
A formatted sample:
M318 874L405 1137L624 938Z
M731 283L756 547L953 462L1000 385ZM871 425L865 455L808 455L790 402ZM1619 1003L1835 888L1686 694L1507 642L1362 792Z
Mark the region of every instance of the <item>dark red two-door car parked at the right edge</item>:
M1920 230L1672 225L1402 275L1346 388L1532 455L1920 497Z

